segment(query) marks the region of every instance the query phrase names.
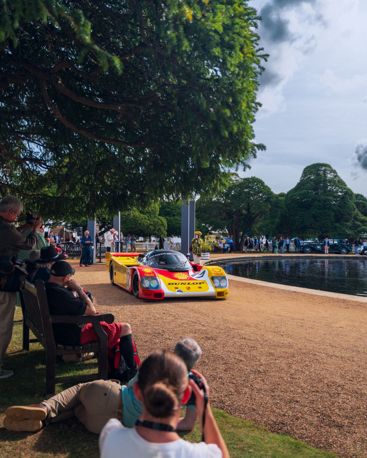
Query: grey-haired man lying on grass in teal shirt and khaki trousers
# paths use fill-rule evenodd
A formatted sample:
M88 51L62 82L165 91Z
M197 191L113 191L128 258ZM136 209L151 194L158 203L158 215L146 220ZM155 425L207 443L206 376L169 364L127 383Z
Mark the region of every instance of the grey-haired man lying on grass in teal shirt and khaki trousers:
M190 371L201 356L199 344L191 338L180 340L174 349ZM77 417L91 432L100 434L111 418L131 428L142 414L142 405L136 399L133 385L139 373L120 385L116 380L95 380L79 383L40 404L13 406L6 410L4 427L9 431L39 431L43 426ZM196 423L195 406L189 405L180 418L178 430L191 431Z

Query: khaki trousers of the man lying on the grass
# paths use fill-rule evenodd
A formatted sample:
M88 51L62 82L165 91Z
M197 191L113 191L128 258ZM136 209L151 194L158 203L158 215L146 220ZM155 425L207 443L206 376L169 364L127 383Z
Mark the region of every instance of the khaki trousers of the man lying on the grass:
M116 380L79 383L43 401L46 425L77 417L91 432L100 434L111 418L122 419L121 385Z

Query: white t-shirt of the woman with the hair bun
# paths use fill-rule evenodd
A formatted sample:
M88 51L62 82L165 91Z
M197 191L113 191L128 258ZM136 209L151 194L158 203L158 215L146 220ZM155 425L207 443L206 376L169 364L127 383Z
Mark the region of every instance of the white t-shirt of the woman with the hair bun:
M148 442L135 428L125 428L116 419L108 420L100 433L100 458L222 458L216 444L178 439L173 442Z

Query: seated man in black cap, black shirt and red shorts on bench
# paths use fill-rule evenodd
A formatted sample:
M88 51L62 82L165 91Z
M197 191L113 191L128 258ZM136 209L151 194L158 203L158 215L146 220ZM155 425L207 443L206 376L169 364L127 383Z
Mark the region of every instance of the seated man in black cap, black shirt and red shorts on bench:
M50 315L95 315L93 302L84 293L80 284L72 279L75 269L66 261L57 261L50 270L50 280L44 285ZM65 288L66 286L68 288ZM122 357L128 367L133 368L131 375L135 375L137 367L130 325L101 322L101 326L107 334L108 349L115 347L120 339ZM57 344L78 346L98 340L92 323L84 325L53 323L52 328Z

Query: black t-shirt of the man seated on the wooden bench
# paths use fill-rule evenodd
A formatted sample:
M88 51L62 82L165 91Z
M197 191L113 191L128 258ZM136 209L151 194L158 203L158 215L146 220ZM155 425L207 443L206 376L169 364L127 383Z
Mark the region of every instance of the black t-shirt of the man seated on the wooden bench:
M83 315L87 304L75 297L71 291L56 283L44 285L49 304L50 315ZM80 345L83 324L53 323L56 344Z

